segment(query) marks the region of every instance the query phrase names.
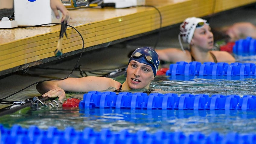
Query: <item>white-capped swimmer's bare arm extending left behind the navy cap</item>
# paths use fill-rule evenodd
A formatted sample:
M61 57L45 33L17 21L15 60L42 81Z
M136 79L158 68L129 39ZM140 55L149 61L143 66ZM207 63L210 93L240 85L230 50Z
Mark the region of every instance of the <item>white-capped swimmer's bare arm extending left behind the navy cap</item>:
M159 59L166 62L178 62L178 61L187 61L187 53L184 53L180 49L168 48L168 49L158 49L155 50L158 53Z

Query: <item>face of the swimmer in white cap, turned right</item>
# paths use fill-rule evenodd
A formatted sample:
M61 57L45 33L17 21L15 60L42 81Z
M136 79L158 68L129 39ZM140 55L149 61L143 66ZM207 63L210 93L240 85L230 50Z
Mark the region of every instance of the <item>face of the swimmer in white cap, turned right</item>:
M213 33L211 27L204 24L203 27L196 28L190 45L200 48L201 50L213 49Z

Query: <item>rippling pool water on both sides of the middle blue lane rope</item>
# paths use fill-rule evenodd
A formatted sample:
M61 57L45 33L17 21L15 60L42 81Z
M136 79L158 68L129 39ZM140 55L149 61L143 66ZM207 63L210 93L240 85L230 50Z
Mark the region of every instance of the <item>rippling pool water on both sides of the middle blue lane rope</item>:
M125 76L121 75L116 80L123 82ZM213 94L231 95L256 95L256 79L252 76L219 77L211 79L199 76L156 76L150 88L158 93ZM133 90L131 92L143 92ZM83 94L68 94L70 98L83 98ZM142 109L114 109L92 108L79 110L78 108L66 109L59 107L43 106L38 110L30 108L20 110L14 114L1 117L1 124L11 128L18 124L24 128L36 125L40 129L55 126L60 130L73 127L83 130L90 127L95 131L104 128L111 131L128 130L136 133L145 130L154 133L158 130L165 132L181 131L186 135L200 132L209 135L212 132L239 134L256 132L256 110L142 110Z

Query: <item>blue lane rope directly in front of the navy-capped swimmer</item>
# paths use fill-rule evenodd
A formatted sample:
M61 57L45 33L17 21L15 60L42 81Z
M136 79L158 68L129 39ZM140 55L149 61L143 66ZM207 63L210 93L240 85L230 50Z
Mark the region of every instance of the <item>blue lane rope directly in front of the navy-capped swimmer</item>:
M174 109L174 110L256 110L256 96L214 94L130 93L89 91L79 109Z

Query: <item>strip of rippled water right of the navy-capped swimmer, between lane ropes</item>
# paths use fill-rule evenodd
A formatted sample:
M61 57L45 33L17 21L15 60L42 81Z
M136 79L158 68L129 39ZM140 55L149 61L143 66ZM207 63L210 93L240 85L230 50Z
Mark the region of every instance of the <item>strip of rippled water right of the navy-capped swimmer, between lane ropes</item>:
M162 76L156 78L151 87L162 89L166 93L176 94L222 94L255 95L256 79L254 76ZM165 92L161 92L165 93Z

